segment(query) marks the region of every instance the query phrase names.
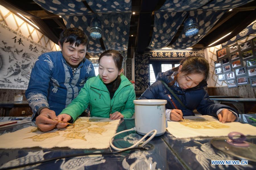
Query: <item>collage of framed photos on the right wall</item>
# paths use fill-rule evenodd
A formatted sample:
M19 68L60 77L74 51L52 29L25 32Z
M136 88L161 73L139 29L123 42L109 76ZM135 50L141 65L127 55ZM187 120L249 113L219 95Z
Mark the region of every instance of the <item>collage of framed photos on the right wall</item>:
M214 66L218 80L226 80L229 88L246 84L256 87L256 38L219 49Z

